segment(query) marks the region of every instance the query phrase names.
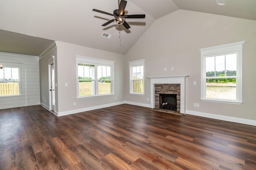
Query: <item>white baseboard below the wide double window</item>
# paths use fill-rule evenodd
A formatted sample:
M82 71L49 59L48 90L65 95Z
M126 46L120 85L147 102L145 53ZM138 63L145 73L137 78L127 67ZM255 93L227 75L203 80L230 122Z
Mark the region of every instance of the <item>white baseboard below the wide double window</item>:
M95 110L95 109L102 109L105 107L110 107L110 106L116 106L116 105L120 105L120 104L124 104L125 102L116 102L116 103L111 103L111 104L104 104L104 105L100 105L100 106L92 106L92 107L85 107L82 109L76 109L76 110L69 110L69 111L62 111L62 112L58 112L55 113L55 115L59 116L64 116L64 115L71 115L74 113L80 113L83 111L90 111L90 110Z

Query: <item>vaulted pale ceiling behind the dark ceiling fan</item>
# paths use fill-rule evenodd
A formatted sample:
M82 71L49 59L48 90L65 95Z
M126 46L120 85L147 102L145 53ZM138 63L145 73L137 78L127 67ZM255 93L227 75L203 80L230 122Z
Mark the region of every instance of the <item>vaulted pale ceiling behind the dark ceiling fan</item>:
M223 1L223 0L221 0ZM145 19L126 19L131 26L111 23L118 0L0 0L0 52L40 55L53 41L63 41L125 54L150 25L176 10L191 10L256 21L256 0L127 0L126 15L146 14ZM102 37L103 33L111 35Z

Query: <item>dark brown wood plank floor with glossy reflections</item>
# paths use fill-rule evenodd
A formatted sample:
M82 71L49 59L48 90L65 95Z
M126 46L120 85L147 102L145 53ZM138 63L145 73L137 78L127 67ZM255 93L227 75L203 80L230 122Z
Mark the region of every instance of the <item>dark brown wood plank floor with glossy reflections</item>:
M256 127L123 104L0 110L1 170L256 169Z

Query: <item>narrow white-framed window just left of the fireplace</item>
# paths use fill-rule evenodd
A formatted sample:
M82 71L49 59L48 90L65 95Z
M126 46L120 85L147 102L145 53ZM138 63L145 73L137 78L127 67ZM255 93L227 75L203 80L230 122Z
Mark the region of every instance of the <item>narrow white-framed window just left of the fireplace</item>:
M130 93L144 94L144 59L130 61Z

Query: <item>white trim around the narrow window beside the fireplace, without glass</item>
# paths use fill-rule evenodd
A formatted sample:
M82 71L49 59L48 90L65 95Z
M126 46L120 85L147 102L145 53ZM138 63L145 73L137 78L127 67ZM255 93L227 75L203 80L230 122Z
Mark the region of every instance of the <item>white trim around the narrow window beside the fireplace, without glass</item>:
M136 60L136 61L129 61L129 70L130 70L130 94L138 94L138 95L144 95L145 94L145 59ZM143 93L134 93L133 92L133 86L132 86L132 67L134 66L143 66Z

